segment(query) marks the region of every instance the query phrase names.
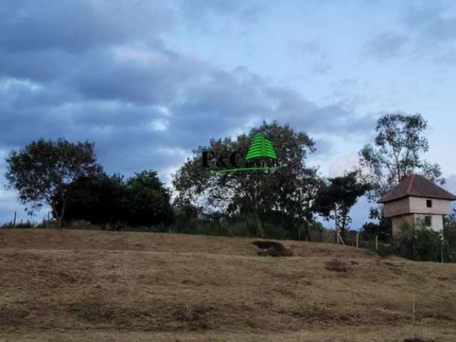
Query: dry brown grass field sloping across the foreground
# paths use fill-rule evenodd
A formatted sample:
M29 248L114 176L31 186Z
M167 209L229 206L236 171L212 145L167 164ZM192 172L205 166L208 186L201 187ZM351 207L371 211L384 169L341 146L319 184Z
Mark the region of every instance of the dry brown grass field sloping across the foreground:
M0 231L0 341L456 341L455 264L252 241Z

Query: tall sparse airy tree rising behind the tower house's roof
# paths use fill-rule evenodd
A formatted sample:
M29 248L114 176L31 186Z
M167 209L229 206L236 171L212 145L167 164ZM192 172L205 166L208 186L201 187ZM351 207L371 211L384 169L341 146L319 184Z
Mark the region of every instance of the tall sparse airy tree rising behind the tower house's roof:
M433 182L442 183L440 166L421 159L429 150L423 137L427 121L420 114L393 113L378 119L373 144L359 152L363 179L372 185L368 199L376 202L385 192L411 173L423 175ZM372 218L379 218L377 207L371 210Z

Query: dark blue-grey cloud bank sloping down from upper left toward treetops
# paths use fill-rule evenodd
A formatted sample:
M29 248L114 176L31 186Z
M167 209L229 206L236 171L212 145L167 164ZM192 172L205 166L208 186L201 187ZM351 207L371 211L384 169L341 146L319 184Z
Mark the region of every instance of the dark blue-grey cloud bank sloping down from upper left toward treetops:
M41 137L90 140L108 172L152 168L169 180L193 148L264 119L310 134L372 127L341 103L320 106L246 68L167 47L161 34L175 14L149 3L0 5L0 153ZM0 220L8 199L0 194Z

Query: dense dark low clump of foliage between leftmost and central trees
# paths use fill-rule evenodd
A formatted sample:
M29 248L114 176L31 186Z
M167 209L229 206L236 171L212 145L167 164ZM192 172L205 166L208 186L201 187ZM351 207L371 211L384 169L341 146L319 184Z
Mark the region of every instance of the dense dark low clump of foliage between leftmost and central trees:
M66 221L86 220L101 224L103 229L108 224L111 229L155 226L153 229L160 232L173 221L170 195L154 171L138 173L126 182L119 175L98 172L78 177L68 189L73 196L65 212ZM59 199L53 203L57 208L61 206Z

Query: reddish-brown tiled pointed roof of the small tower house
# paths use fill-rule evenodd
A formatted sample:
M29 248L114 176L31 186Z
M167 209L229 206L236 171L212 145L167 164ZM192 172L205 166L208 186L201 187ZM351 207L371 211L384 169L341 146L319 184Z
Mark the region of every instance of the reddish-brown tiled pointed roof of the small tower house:
M452 193L447 192L447 190L442 189L442 187L435 185L434 182L427 180L425 177L420 175L409 175L405 177L402 182L393 187L393 189L386 192L378 202L386 203L408 196L448 199L450 201L456 199L455 195L452 195Z

